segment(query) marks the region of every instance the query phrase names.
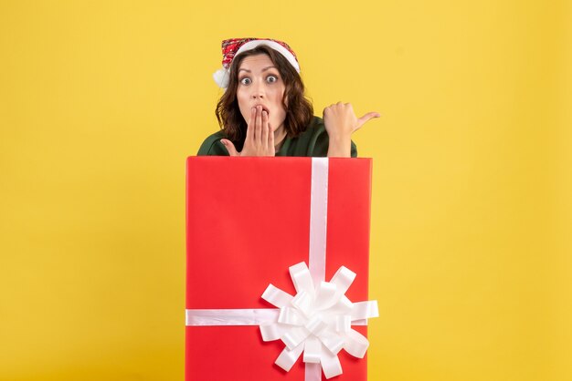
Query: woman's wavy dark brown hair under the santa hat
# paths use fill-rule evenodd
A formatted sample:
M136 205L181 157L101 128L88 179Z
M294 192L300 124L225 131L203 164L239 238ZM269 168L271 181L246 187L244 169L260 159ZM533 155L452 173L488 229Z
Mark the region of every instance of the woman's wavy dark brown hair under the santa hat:
M240 67L240 63L245 57L260 54L270 57L284 81L285 89L282 97L282 106L286 110L284 129L286 129L288 136L295 138L300 135L313 118L312 102L305 97L304 84L300 74L281 53L269 46L257 46L252 50L240 53L233 59L230 66L227 91L218 100L215 111L218 125L224 130L226 137L235 143L237 149L242 149L247 131L247 122L242 118L238 108L238 67Z

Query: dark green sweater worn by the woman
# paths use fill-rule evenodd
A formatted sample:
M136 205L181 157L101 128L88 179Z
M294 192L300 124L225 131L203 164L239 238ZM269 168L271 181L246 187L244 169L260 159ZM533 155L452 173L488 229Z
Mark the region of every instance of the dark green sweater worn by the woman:
M197 156L228 156L228 150L220 142L225 139L225 133L220 130L209 136L200 149ZM329 146L328 133L323 125L323 119L313 117L308 128L297 138L286 137L281 149L276 152L276 156L308 156L308 157L326 157L328 156ZM357 148L352 141L352 158L357 157Z

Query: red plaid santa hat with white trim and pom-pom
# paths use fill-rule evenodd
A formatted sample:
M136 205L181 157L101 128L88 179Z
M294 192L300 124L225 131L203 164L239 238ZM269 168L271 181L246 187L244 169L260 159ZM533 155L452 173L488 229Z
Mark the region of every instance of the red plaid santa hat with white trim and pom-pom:
M270 38L231 38L222 42L222 68L218 69L213 77L219 88L228 88L229 67L234 57L242 52L254 49L257 46L264 45L279 52L284 56L291 66L300 73L300 65L296 55L285 42L273 40Z

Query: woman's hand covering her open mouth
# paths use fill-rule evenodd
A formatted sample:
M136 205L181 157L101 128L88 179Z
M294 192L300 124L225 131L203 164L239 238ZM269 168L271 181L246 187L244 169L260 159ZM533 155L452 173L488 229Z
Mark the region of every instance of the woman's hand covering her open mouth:
M251 109L247 137L240 152L230 140L221 139L220 142L227 148L230 156L274 156L276 153L274 132L270 129L268 112L263 110L262 106Z

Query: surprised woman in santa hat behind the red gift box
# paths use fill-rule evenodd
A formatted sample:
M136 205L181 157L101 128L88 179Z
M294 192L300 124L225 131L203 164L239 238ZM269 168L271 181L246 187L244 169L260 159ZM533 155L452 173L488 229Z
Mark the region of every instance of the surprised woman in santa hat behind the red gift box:
M376 112L356 118L338 102L313 116L305 98L300 66L290 46L260 38L222 43L223 68L215 81L225 93L217 104L221 130L209 136L198 155L357 156L352 134Z

